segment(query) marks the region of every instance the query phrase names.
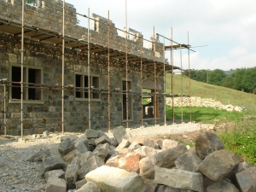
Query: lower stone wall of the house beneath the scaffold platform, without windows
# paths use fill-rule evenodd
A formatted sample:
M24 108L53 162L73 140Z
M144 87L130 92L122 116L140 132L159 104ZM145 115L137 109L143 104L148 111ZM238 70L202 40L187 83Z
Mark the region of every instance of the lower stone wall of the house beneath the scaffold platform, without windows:
M10 79L10 68L20 64L20 38L9 34L0 33L0 79ZM61 84L61 47L51 46L25 39L25 67L41 67L43 72L43 84ZM75 73L88 72L88 57L86 54L76 50L65 50L65 85L74 84ZM103 56L90 56L90 73L98 75L100 87L108 90L108 58ZM130 73L128 79L131 80L132 91L140 91L140 68L129 63ZM110 89L122 87L122 79L125 78L125 63L111 60ZM147 77L143 75L143 80L154 80L154 75ZM159 92L163 78L158 78ZM9 84L10 85L10 84ZM3 95L3 88L1 94ZM9 135L20 135L20 103L10 101L7 87L7 133ZM132 95L133 119L129 121L130 126L141 125L141 96ZM65 90L64 96L64 119L65 131L84 131L88 128L88 101L76 101L73 90ZM37 101L36 101L37 102ZM159 98L158 123L163 122L163 98ZM99 101L90 102L91 105L91 128L108 127L108 94L101 93ZM3 112L3 103L0 103ZM111 126L125 125L122 119L122 95L111 94ZM24 103L24 135L40 133L42 131L61 131L61 90L56 90L54 86L43 89L42 103ZM151 123L153 123L152 120ZM150 123L150 121L149 121ZM3 134L3 113L0 119Z

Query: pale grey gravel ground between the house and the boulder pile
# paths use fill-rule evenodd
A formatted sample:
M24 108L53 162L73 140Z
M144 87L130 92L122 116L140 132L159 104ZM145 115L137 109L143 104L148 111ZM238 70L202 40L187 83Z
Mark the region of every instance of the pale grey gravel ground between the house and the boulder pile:
M198 131L208 127L209 125L201 124L179 124L126 129L126 131L131 133L131 135L152 137L156 135ZM106 133L109 137L113 136L111 131L107 131ZM65 133L65 135L70 134L73 133ZM83 134L77 133L78 136ZM38 170L41 163L32 163L27 161L27 159L40 148L49 148L51 145L60 143L61 137L61 133L50 133L49 137L41 136L39 138L27 136L23 140L20 140L19 137L0 136L0 191L44 191L46 187L45 180L44 178L38 177Z

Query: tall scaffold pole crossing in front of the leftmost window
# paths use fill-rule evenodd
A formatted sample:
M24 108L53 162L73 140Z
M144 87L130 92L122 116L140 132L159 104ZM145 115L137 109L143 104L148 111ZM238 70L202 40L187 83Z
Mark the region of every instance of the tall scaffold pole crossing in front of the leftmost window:
M24 66L24 7L25 7L25 0L22 0L22 26L21 26L21 67L20 67L20 134L21 139L23 138L23 66Z

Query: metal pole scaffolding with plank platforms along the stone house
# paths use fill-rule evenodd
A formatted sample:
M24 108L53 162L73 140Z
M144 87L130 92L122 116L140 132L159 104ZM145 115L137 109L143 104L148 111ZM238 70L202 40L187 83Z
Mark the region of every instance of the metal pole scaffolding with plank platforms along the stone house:
M47 2L42 0L42 2ZM47 2L49 3L49 2ZM113 49L110 46L110 20L109 20L109 11L108 11L108 41L107 45L101 45L101 44L94 44L90 42L90 20L95 20L94 18L90 18L90 9L88 9L88 15L82 15L79 13L75 13L76 15L81 15L84 18L87 18L88 20L88 30L87 30L87 41L82 38L73 38L71 36L67 36L65 34L65 18L66 18L66 7L65 7L65 0L63 0L62 6L57 5L55 3L52 3L54 6L58 6L62 9L62 32L53 32L49 31L43 28L39 28L37 26L29 26L25 24L25 17L24 17L24 7L25 7L25 0L22 0L22 11L21 11L21 16L22 16L22 21L21 24L19 22L14 22L10 20L3 20L0 18L0 32L7 32L9 34L20 34L20 27L21 27L21 57L20 57L20 65L21 65L21 79L20 82L14 82L11 80L4 80L3 83L0 81L0 85L3 85L3 100L4 100L4 132L5 136L7 134L6 131L6 89L11 88L11 87L20 87L20 133L21 133L21 138L23 137L23 126L24 126L24 121L23 121L23 98L24 98L24 89L50 89L50 90L61 90L61 132L64 134L65 132L65 119L64 119L64 91L65 90L71 90L73 92L80 90L82 92L88 92L88 123L89 123L89 129L91 128L91 113L90 113L90 94L91 93L98 93L98 94L107 94L108 95L108 131L111 130L111 101L110 97L112 94L121 94L125 96L125 110L126 110L126 118L125 118L125 124L126 127L129 127L129 96L140 96L141 100L143 101L143 96L153 96L154 97L154 125L157 125L158 118L157 118L157 98L158 97L163 97L164 101L164 125L166 125L166 96L171 96L172 97L172 123L174 123L174 92L173 92L173 71L178 69L178 70L183 70L182 67L182 49L188 49L188 55L189 55L189 50L190 45L189 45L189 32L188 32L188 44L178 44L177 42L173 41L172 39L172 29L171 29L171 38L166 38L158 33L153 32L154 38L152 41L148 41L147 39L143 38L142 33L140 33L139 37L137 37L140 41L140 49L139 55L133 55L131 52L129 52L127 41L128 41L128 35L130 36L137 36L131 32L128 32L128 26L127 26L127 10L126 10L126 1L125 1L125 30L118 29L121 32L125 32L125 51L118 50L118 49ZM96 22L101 22L99 20L95 20ZM116 28L117 29L117 28ZM154 30L153 30L154 31ZM166 58L163 56L163 61L157 61L155 59L156 55L156 36L161 36L163 39L167 39L170 41L171 45L165 45L165 40L163 44L163 53L165 53L166 50L171 50L171 64L166 63ZM38 40L38 42L44 41L44 43L47 44L52 44L52 46L60 46L62 49L61 52L61 85L59 84L34 84L34 83L26 83L24 82L23 79L23 65L24 65L24 39L25 36L28 38L32 38L35 40ZM143 57L143 41L148 41L153 45L153 51L154 51L154 59L147 59ZM173 44L175 43L175 44ZM87 50L87 55L88 55L88 86L87 87L78 87L73 84L67 84L65 85L65 79L64 79L64 73L65 73L65 49L74 49L78 51L83 51L85 52ZM173 64L173 50L174 49L180 49L180 59L181 59L181 67L175 67ZM194 50L192 50L194 51ZM90 85L90 55L103 55L108 57L108 87L107 89L104 88L95 88ZM164 54L165 55L165 54ZM123 88L120 90L119 88L110 88L110 67L111 67L111 59L116 59L119 61L125 61L125 89ZM136 63L139 68L140 68L140 84L141 84L141 90L140 91L133 91L129 89L129 84L128 84L128 73L129 73L129 62ZM190 61L189 61L190 62ZM189 63L190 67L190 63ZM143 91L143 72L145 70L148 70L149 72L154 72L154 91L151 93L144 92ZM163 71L163 77L164 77L164 90L163 93L158 92L157 88L157 71L162 70ZM166 94L166 73L172 73L172 93L171 94ZM181 75L182 78L182 75ZM190 70L189 70L189 78L190 78ZM15 84L15 85L14 85ZM20 84L17 85L17 84ZM183 89L183 88L181 88ZM189 94L190 94L190 81L189 81ZM183 92L182 92L183 96ZM144 126L144 117L143 117L143 102L142 102L142 110L141 110L141 125L142 127ZM190 122L191 122L191 112L190 112Z

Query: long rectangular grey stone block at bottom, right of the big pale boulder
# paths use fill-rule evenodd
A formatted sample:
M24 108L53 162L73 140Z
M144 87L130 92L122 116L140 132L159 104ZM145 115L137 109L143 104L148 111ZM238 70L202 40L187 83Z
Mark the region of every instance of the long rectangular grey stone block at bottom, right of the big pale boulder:
M154 182L172 188L203 191L203 176L198 172L155 167Z

